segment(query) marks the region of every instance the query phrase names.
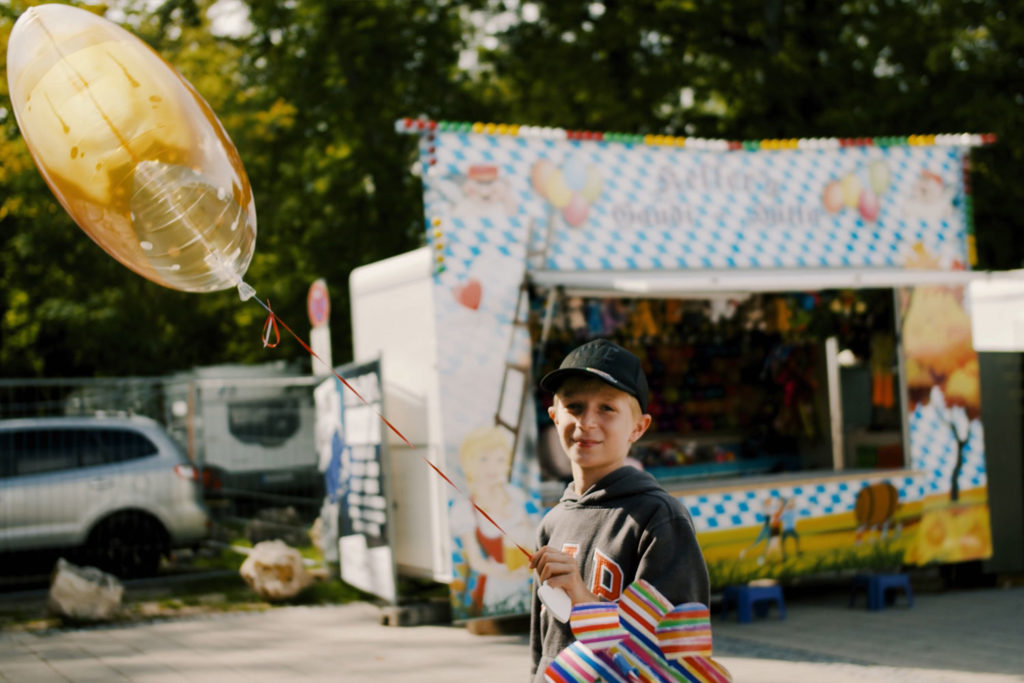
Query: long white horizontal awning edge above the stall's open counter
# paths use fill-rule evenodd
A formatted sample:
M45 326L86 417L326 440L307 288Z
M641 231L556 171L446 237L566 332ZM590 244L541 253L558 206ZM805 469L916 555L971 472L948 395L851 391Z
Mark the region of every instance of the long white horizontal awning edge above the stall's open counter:
M886 289L919 285L1009 283L1024 288L1024 270L911 268L701 269L662 271L531 270L529 280L567 294L618 297L697 297L756 292Z

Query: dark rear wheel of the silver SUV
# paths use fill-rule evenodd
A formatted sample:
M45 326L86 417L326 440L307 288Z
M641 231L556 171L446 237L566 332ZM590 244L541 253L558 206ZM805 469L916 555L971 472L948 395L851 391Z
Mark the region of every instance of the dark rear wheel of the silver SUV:
M144 513L121 513L89 535L86 554L97 567L119 579L152 577L167 552L167 531Z

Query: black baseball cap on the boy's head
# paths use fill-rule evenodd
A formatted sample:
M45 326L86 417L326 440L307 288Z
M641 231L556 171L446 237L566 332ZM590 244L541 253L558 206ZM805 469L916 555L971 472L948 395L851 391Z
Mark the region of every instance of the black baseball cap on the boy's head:
M596 377L607 384L635 396L640 412L647 412L649 390L640 358L625 348L608 341L595 339L568 352L558 370L541 378L541 388L551 393L572 375Z

